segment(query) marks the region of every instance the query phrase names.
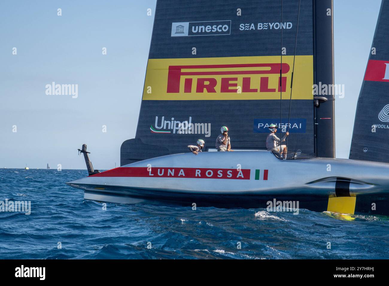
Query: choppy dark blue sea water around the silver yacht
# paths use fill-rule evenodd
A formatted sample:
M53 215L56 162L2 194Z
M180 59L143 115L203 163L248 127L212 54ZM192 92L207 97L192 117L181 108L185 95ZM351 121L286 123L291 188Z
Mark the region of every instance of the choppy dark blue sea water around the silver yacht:
M0 201L31 201L30 215L0 212L2 258L389 257L386 216L120 204L104 210L65 184L86 175L0 169Z

